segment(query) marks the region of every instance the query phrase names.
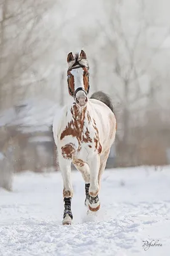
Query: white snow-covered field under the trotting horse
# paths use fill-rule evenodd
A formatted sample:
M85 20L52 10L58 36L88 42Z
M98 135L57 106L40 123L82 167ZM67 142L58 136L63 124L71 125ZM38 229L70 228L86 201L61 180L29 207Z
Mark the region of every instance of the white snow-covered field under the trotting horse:
M0 189L1 256L170 255L168 166L106 170L96 216L86 213L81 174L72 177L70 226L61 225L61 173L22 173L13 192ZM143 247L152 240L162 246Z

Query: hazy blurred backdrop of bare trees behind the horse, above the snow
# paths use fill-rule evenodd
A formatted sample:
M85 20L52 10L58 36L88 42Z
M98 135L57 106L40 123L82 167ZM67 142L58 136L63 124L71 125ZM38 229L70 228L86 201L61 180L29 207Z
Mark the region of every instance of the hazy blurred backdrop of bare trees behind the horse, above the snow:
M170 164L169 8L169 0L1 0L1 172L57 170L52 120L69 100L67 54L81 49L90 94L103 90L115 107L107 167Z

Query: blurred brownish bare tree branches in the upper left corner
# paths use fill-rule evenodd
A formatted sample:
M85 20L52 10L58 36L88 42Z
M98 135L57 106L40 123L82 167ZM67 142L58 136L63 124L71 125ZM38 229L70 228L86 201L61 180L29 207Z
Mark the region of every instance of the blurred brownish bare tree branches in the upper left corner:
M54 0L1 1L1 109L12 106L16 103L15 99L23 99L31 84L43 83L45 80L45 77L39 76L37 66L38 61L48 54L52 34L43 26L43 22L46 22L46 15L56 4Z

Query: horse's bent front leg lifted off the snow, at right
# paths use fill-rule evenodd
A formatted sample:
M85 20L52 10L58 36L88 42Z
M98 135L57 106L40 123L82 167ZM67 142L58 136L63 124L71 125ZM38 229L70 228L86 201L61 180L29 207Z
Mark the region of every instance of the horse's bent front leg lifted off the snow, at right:
M89 163L90 166L90 186L89 186L89 209L90 211L98 211L100 208L99 201L99 166L100 157L98 154L94 155Z

